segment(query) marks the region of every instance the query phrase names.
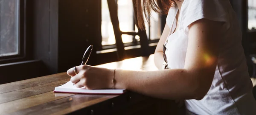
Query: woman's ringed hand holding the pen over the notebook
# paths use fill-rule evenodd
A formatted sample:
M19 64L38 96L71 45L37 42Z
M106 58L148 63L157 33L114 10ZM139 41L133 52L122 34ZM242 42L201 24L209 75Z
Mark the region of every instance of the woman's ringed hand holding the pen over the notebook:
M67 74L76 87L85 87L88 90L108 89L112 86L113 70L107 68L80 65L76 67L77 74L70 68Z

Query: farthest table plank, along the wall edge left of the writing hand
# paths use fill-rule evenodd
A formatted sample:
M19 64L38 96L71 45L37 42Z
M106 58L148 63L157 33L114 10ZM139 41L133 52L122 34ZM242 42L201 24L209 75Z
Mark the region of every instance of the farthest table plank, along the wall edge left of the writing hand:
M67 79L67 78L70 78L70 76L67 76L67 74L65 74L65 73L58 73L58 74L50 75L50 76L43 76L43 77L27 79L27 80L23 80L23 81L16 81L16 82L8 83L8 84L1 84L0 85L0 94L25 89L28 87L35 87L37 85L60 81L60 80Z

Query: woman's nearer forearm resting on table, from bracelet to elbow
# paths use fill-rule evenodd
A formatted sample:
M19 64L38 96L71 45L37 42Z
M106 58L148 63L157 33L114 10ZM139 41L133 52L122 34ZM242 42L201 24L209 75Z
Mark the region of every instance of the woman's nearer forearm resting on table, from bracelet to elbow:
M212 78L213 75L200 77L184 69L116 70L115 74L116 88L166 99L201 99L208 92Z

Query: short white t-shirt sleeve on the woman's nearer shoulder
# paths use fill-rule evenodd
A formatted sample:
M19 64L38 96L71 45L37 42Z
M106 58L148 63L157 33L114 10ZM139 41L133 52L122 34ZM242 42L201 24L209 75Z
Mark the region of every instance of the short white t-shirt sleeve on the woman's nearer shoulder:
M181 21L184 27L191 23L208 19L219 22L228 22L225 2L228 0L184 0L180 10Z

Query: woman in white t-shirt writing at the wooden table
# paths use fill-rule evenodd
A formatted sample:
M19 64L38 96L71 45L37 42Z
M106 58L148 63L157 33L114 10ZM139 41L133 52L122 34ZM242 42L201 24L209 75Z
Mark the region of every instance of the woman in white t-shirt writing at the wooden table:
M144 14L150 9L168 14L154 53L159 70L82 65L77 75L73 68L67 71L76 87L128 89L157 98L185 99L188 115L256 114L241 31L229 0L138 1L139 28L144 27L141 9Z

